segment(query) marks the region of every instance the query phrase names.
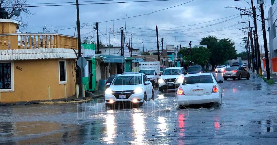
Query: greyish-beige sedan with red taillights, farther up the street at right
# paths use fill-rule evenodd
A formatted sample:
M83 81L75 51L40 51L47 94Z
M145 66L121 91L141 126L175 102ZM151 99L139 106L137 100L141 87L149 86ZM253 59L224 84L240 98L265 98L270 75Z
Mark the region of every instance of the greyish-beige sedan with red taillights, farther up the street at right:
M229 78L233 80L235 80L236 78L238 80L241 80L242 78L249 79L250 73L243 67L229 67L223 72L223 78L224 80L227 80Z

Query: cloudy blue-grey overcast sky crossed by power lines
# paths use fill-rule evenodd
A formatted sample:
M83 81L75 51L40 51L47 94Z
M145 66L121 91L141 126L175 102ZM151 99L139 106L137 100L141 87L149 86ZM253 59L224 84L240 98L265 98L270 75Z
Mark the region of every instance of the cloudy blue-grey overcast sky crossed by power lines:
M80 4L82 1L79 0ZM142 1L142 0L114 0L119 1ZM164 48L166 45L181 44L188 47L189 41L192 45L199 45L201 38L208 35L217 38L230 38L236 43L238 52L245 50L239 38L246 37L242 31L236 28L246 27L245 24L238 24L241 21L250 20L251 17L240 16L240 11L235 8L224 8L235 6L240 8L250 8L250 0L176 0L176 1L158 1L158 2L139 2L139 3L116 3L116 4L97 4L97 5L80 5L80 23L81 37L88 37L96 41L95 22L99 23L100 40L104 44L109 43L109 28L111 28L111 44L113 44L113 30L115 31L115 46L120 46L120 28L125 27L125 19L109 21L113 19L137 16L142 14L149 15L127 18L126 21L126 42L129 43L132 34L132 44L135 48L142 50L142 39L144 39L145 50L157 49L156 44L156 25L158 25L159 41L164 38ZM44 3L45 1L29 0L28 3ZM74 2L74 0L48 0L47 3L55 2ZM87 2L87 3L102 3ZM186 3L189 2L189 3ZM186 3L180 5L182 3ZM177 6L179 5L179 6ZM258 7L257 1L254 5ZM268 6L269 5L269 6ZM174 8L169 8L173 7ZM267 18L268 9L271 6L270 0L265 0L265 18ZM162 10L169 8L166 10ZM32 7L29 8L34 15L25 18L28 22L27 28L21 28L25 32L42 32L46 25L48 33L54 33L58 30L59 34L74 35L76 25L76 6L50 6L50 7ZM260 14L259 10L257 10ZM226 18L227 17L227 18ZM220 20L216 20L220 19ZM216 20L216 21L213 21ZM109 21L109 22L103 22ZM211 21L211 22L207 22ZM102 22L102 23L101 23ZM203 23L207 22L207 23ZM202 23L202 24L199 24ZM188 26L190 25L190 26ZM267 25L267 24L266 24ZM84 26L84 27L82 27ZM258 23L258 30L261 30L261 23ZM64 30L62 30L64 29ZM244 29L246 30L246 29ZM76 31L77 33L77 31ZM262 31L259 31L262 34ZM176 43L175 43L176 41ZM260 44L263 44L260 36Z

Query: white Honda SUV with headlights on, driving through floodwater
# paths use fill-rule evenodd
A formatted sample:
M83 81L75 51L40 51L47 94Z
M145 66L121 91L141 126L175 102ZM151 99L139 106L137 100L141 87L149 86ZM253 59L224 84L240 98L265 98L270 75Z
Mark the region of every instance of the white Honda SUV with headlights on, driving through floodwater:
M105 90L104 100L107 106L126 102L142 105L144 101L154 99L154 90L145 74L119 74Z

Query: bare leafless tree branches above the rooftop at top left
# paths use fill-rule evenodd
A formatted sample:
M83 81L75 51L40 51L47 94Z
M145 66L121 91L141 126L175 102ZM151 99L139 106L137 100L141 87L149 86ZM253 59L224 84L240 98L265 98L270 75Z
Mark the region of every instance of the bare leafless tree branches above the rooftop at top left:
M27 23L24 23L22 21L22 15L25 15L27 18L32 14L31 11L27 9L27 1L28 0L0 0L0 8L5 8L5 10L8 12L8 19L17 19L17 21L20 21L21 27L27 27ZM14 11L19 10L20 16L17 18L17 16L14 15Z

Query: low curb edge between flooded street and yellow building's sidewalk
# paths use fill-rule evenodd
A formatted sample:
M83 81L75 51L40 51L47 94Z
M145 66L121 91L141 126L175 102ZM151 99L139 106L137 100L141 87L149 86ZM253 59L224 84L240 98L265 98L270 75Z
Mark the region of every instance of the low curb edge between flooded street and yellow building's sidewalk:
M64 103L79 103L86 102L96 98L103 97L104 95L98 95L93 97L87 97L84 99L72 99L65 101L33 101L33 102L18 102L18 103L0 103L0 106L8 106L8 105L34 105L34 104L64 104Z

